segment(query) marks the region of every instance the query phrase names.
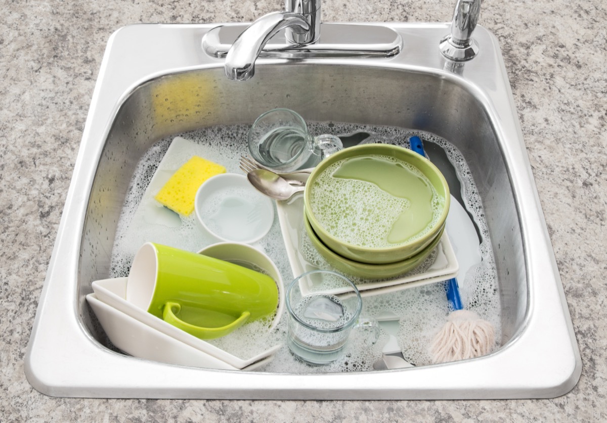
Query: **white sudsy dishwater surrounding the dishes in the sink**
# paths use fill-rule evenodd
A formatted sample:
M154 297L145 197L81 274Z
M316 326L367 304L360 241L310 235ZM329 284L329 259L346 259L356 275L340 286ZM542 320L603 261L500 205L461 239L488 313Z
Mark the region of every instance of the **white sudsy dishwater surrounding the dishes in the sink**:
M470 268L466 275L459 275L459 287L464 306L475 311L481 319L489 321L496 328L496 339L501 338L500 298L498 295L497 272L495 270L493 250L489 239L489 230L484 217L481 198L476 191L475 182L459 150L443 138L432 133L407 130L399 127L376 127L373 125L342 124L333 122L308 122L311 133L331 133L334 135L351 135L357 132L370 133L362 144L385 142L409 147L409 137L419 136L424 142L433 142L443 148L450 163L456 170L462 187L464 207L472 215L480 232L480 252L483 258L480 265ZM239 159L248 153L246 134L248 125L231 125L203 128L195 132L180 134L192 140L191 151L181 157L175 155L176 161L185 162L192 155L222 164L228 172L241 173ZM216 239L200 230L195 213L181 216L177 227L166 227L158 235L157 228L149 228L141 219L133 219L140 207L143 193L163 159L164 153L174 137L165 138L153 145L144 153L129 185L123 210L118 221L117 235L112 249L109 277L127 276L131 261L138 248L144 242L152 241L171 245L190 251L198 251L206 245L214 244ZM430 157L432 159L432 157ZM181 163L176 163L177 168ZM275 217L268 234L257 245L276 264L285 284L293 280L294 275L288 262L285 245L280 233L278 219ZM307 255L318 256L316 251L307 251ZM299 275L295 275L299 276ZM373 317L382 313L393 313L400 317L398 344L404 358L415 365L426 365L432 362L429 347L432 338L446 322L449 310L442 283L422 285L392 292L386 295L369 296L363 299L361 316ZM271 345L282 343L274 359L259 371L277 373L332 373L342 371L373 370L373 363L381 359L382 347L388 341L384 330L375 344L357 339L361 331L353 330L341 356L330 364L311 366L297 359L287 347L288 313L283 313L279 324L269 331L272 316L268 319L251 322L237 331L209 342L240 358L249 358Z

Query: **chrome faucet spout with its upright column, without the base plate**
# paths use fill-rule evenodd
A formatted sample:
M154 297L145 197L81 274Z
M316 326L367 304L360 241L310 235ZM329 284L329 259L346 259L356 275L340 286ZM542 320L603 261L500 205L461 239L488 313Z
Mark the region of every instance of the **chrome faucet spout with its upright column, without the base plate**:
M290 44L308 45L320 35L320 0L287 0L285 12L262 16L240 34L226 56L225 70L230 79L245 81L255 73L255 61L263 46L280 30Z

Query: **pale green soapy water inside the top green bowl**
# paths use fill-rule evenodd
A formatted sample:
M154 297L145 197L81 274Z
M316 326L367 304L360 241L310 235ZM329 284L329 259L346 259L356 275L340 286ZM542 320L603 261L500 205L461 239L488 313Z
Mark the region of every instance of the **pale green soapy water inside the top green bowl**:
M423 236L444 199L415 166L367 155L325 169L314 183L312 203L320 224L336 238L390 247Z

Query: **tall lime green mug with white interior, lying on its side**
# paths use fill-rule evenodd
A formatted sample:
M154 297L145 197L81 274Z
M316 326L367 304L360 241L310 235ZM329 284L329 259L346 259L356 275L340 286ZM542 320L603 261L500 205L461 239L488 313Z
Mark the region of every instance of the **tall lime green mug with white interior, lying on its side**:
M272 315L279 295L268 275L147 242L133 259L126 300L197 338L212 339Z

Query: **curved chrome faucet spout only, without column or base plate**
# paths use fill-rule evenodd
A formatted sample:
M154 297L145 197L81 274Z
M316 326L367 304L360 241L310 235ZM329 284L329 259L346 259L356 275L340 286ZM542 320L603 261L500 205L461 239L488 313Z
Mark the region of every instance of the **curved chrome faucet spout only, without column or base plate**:
M251 78L255 73L255 61L263 46L284 28L303 34L310 31L310 24L304 15L293 12L273 12L257 19L229 49L225 64L228 78L237 81Z

